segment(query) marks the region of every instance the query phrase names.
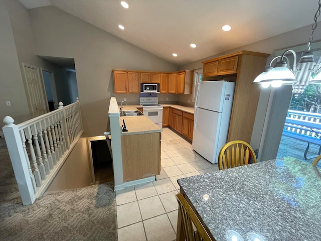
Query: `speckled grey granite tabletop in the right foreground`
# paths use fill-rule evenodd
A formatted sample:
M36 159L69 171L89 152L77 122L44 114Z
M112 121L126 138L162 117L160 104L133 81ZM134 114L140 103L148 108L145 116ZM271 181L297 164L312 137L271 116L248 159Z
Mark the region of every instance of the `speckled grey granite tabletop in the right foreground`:
M178 179L212 240L321 240L321 174L284 157ZM185 240L181 216L177 240Z

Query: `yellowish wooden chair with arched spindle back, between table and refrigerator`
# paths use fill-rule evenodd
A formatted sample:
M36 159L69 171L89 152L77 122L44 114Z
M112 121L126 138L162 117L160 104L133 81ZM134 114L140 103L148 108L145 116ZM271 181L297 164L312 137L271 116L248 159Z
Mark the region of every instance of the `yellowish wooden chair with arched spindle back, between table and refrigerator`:
M251 158L253 163L256 163L255 153L248 143L243 141L228 142L219 153L219 170L247 165Z

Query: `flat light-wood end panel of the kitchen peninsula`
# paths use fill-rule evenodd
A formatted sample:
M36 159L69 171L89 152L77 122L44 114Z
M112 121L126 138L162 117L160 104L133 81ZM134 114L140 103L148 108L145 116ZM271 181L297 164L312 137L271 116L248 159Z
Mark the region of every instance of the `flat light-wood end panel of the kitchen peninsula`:
M121 136L124 182L158 175L161 172L161 133Z

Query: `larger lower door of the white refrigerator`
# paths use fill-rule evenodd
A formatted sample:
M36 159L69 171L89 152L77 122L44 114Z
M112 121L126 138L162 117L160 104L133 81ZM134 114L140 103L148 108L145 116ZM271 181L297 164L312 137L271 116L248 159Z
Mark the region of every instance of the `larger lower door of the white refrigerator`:
M217 163L222 113L195 108L193 149L211 163ZM221 148L221 147L220 147Z

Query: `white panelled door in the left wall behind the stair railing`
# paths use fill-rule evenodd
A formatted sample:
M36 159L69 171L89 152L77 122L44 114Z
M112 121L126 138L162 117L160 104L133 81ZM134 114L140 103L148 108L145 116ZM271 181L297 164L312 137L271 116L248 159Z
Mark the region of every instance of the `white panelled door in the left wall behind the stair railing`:
M36 117L48 112L47 102L40 80L39 69L37 67L23 64L25 71L26 94L32 116Z

